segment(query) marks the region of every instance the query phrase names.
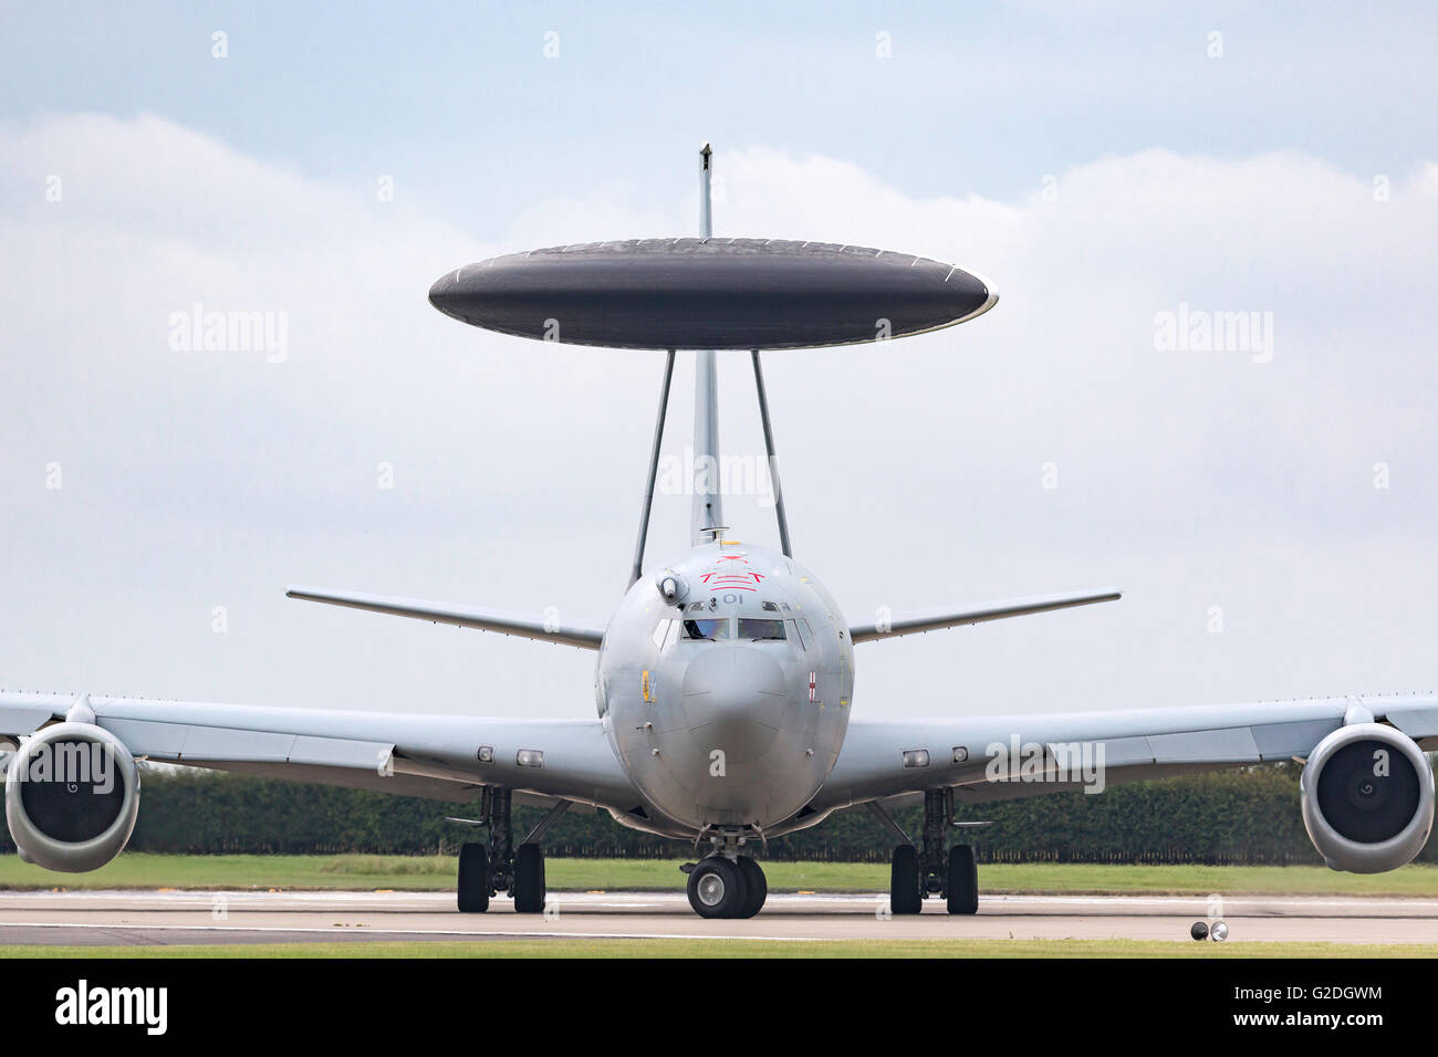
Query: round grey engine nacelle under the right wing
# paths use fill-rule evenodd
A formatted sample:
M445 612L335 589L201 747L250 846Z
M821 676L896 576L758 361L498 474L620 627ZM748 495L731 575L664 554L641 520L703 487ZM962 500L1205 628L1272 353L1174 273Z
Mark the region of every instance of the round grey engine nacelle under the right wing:
M1309 754L1299 788L1309 840L1334 870L1396 870L1428 843L1434 772L1391 726L1340 726Z

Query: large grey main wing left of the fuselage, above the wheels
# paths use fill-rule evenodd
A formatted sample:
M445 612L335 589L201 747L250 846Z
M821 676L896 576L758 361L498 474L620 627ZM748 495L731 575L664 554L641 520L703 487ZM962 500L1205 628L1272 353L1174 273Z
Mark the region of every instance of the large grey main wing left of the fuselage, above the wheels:
M638 802L597 719L81 700L135 758L433 800L469 800L485 785L502 785L529 802L569 800L621 811ZM0 733L32 733L75 703L0 692Z

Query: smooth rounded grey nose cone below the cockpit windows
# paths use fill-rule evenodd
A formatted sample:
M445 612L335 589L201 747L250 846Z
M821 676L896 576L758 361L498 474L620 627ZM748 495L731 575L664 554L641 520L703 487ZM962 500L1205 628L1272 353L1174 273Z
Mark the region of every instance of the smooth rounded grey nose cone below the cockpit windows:
M684 719L707 755L722 749L731 764L764 755L784 716L784 669L764 650L712 646L684 670Z

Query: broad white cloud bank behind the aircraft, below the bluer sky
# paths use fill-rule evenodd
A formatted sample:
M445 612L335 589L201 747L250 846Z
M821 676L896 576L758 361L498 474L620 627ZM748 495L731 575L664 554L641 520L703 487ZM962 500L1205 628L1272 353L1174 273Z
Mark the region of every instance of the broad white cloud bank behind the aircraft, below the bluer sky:
M1002 290L953 331L766 360L795 545L847 616L1130 591L866 647L858 715L1418 689L1431 672L1438 167L1386 174L1386 200L1378 174L1294 152L1096 158L1005 201L916 197L764 145L720 150L718 175L720 236L907 250ZM424 293L496 252L692 232L695 191L634 204L577 187L489 244L403 183L394 201L375 190L372 174L316 180L155 116L0 125L0 683L590 713L590 654L282 590L604 618L659 358L482 334ZM171 348L171 314L194 303L283 312L285 362ZM1158 349L1155 318L1179 305L1271 314L1271 361ZM761 450L745 358L723 367L725 443ZM682 367L672 450L687 385ZM1389 489L1373 488L1379 463ZM736 498L728 513L772 539L772 512ZM653 559L686 523L666 498Z

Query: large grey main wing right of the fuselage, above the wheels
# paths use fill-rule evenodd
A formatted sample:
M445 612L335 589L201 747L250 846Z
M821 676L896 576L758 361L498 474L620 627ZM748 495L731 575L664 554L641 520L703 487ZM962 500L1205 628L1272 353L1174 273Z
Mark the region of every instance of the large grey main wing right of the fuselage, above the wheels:
M1304 759L1343 725L1353 706L1366 708L1375 720L1396 726L1424 749L1438 748L1434 696L1323 697L933 722L856 719L811 807L827 813L933 788L953 788L959 802L982 804L1100 782L1107 787ZM1025 758L1034 768L1027 779L1021 772Z

